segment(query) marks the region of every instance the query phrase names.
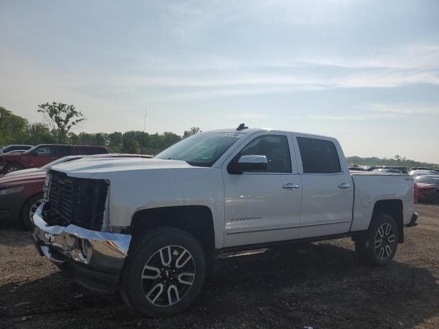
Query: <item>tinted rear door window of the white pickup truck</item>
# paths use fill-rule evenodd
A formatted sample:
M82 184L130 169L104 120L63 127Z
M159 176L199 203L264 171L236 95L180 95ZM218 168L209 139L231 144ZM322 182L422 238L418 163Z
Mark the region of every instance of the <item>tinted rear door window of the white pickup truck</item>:
M297 137L303 173L340 173L340 159L331 141Z

